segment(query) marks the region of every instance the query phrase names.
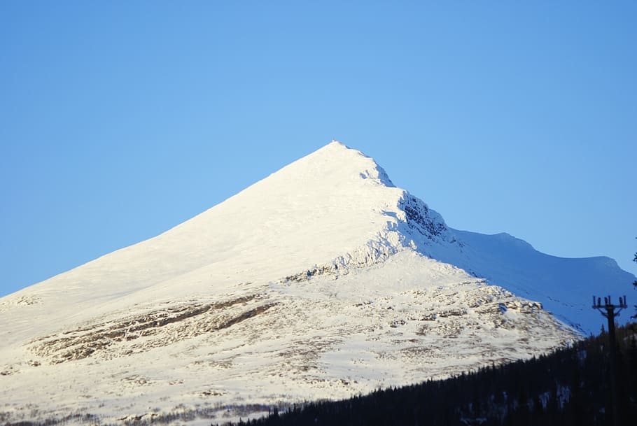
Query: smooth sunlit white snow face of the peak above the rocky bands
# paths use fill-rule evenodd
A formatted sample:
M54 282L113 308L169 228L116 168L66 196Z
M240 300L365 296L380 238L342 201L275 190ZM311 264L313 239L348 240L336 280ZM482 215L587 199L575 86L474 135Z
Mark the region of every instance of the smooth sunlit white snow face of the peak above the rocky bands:
M237 270L244 281L267 282L317 265L369 264L408 244L395 230L407 220L405 197L374 159L332 141L159 236L33 289L94 309L171 299L176 287L206 294L205 283L233 283Z

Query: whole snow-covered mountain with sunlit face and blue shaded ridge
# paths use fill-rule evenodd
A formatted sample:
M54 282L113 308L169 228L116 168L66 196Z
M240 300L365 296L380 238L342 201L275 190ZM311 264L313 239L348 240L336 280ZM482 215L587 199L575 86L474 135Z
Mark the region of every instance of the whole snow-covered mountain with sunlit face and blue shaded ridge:
M450 229L332 142L1 298L0 420L223 423L449 376L596 332L592 295L634 279L606 257Z

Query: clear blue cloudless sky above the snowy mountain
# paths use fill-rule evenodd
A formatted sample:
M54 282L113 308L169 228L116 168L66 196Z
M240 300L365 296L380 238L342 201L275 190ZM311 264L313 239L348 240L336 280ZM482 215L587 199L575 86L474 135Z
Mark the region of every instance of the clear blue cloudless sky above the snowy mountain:
M0 1L0 296L332 136L451 227L637 274L636 45L635 1Z

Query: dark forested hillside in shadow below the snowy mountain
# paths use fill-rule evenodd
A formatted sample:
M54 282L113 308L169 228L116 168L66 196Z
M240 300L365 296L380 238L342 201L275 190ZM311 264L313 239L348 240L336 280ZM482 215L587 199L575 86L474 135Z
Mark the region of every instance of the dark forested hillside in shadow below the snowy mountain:
M618 425L637 419L637 325L617 329ZM610 425L608 336L531 360L377 390L339 402L281 407L250 425ZM247 424L247 423L240 423Z

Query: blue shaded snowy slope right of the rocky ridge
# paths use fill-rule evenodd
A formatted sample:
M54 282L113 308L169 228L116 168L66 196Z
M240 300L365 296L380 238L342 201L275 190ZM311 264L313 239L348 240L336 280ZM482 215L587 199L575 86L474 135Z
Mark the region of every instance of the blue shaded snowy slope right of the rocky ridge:
M497 283L521 297L542 303L557 318L583 334L598 333L604 319L591 308L592 297L626 294L633 274L619 268L609 257L568 259L545 255L526 241L509 234L484 235L458 231L461 254L439 253L438 260L451 262L472 274ZM629 321L630 314L617 318Z

